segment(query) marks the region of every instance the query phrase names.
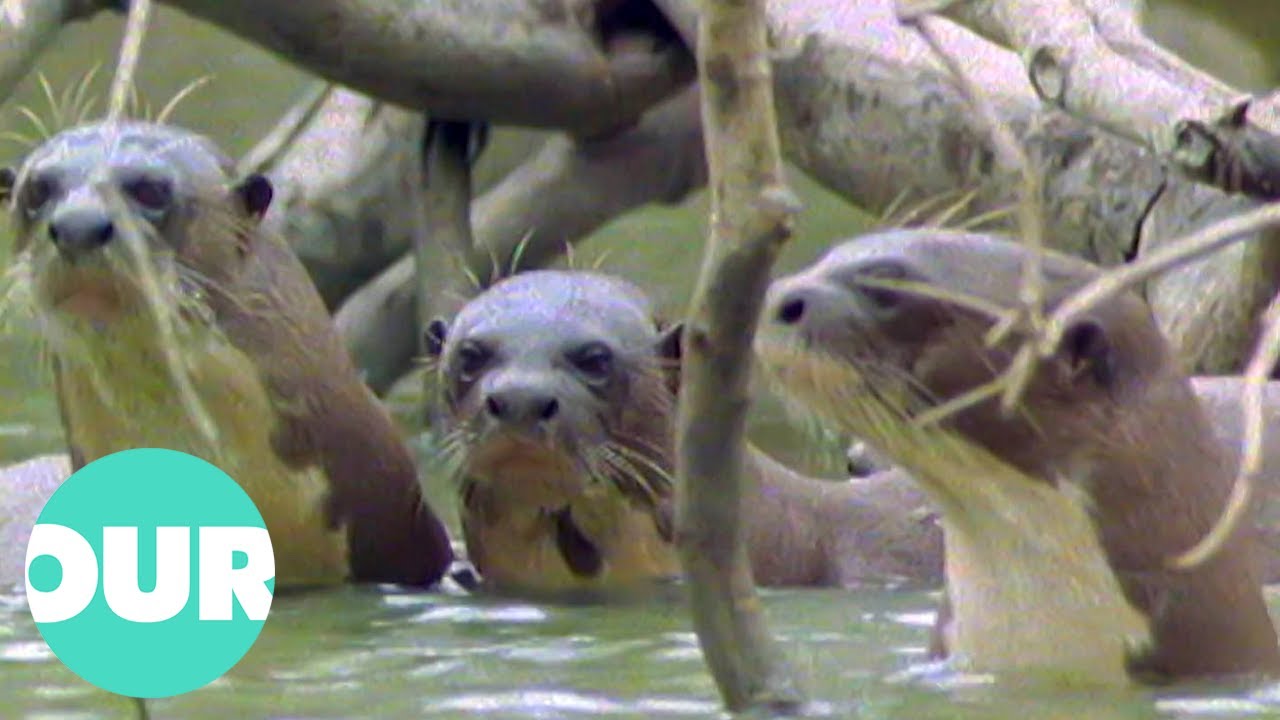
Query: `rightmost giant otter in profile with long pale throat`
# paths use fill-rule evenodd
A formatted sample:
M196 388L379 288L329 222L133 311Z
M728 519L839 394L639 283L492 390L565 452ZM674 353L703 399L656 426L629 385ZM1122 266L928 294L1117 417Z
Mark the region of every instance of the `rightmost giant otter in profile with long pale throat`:
M888 232L769 288L756 350L791 398L864 438L942 512L943 646L964 669L1070 682L1280 673L1253 547L1236 533L1174 570L1221 512L1228 452L1146 304L1073 318L1005 416L995 398L914 418L996 378L1020 338L993 318L877 281L1011 307L1025 250L956 232ZM1050 306L1096 274L1051 254Z

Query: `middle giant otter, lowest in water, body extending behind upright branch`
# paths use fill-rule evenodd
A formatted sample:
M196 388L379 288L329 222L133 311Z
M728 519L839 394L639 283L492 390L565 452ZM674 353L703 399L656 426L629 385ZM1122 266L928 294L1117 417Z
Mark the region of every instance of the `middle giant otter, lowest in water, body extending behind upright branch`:
M678 327L620 278L538 270L433 323L467 552L499 591L635 588L673 578ZM941 579L941 533L897 471L801 477L759 451L746 503L767 585Z

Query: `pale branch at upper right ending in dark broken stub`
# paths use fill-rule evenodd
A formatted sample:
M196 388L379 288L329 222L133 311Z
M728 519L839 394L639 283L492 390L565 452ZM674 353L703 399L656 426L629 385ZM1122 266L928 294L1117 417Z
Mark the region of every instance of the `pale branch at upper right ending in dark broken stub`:
M1175 60L1097 0L968 0L948 14L1018 51L1046 102L1144 143L1189 178L1280 196L1280 136L1251 117L1248 95Z

